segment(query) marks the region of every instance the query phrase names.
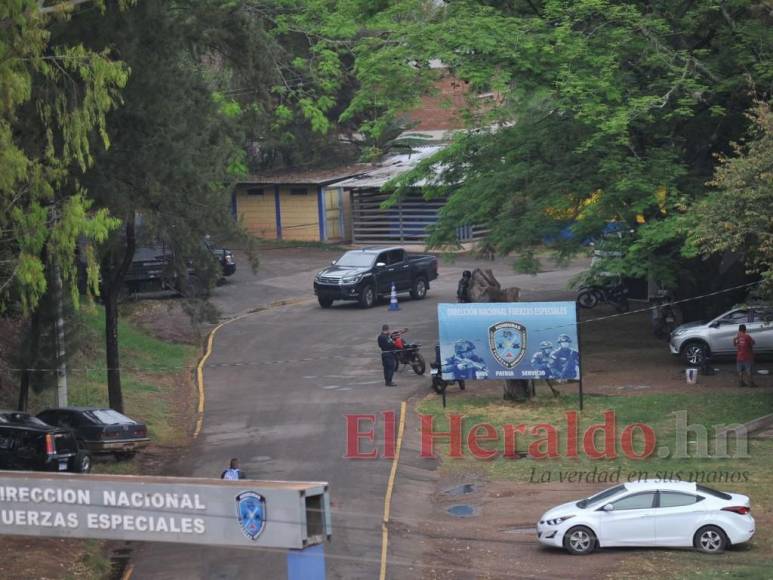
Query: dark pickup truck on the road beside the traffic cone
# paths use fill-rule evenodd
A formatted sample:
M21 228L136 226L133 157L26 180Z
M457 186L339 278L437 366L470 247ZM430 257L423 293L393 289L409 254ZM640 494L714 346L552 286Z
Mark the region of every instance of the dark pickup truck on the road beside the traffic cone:
M410 292L421 300L436 278L434 256L412 256L402 248L363 248L346 252L317 274L314 294L322 308L329 308L334 300L356 300L370 308L379 296L389 296L392 284L398 292Z

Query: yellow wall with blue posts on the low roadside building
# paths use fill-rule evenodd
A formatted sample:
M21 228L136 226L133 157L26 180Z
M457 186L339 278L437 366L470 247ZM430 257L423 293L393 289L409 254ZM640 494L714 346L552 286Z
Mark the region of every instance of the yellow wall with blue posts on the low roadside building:
M293 195L290 189L291 187L286 185L279 188L282 239L319 241L317 186L307 186L306 195ZM266 186L263 192L262 196L247 195L247 188L240 187L236 193L237 213L248 232L261 238L274 239L276 238L274 188ZM335 187L327 189L324 197L327 239L340 240L342 235L338 217L338 190Z

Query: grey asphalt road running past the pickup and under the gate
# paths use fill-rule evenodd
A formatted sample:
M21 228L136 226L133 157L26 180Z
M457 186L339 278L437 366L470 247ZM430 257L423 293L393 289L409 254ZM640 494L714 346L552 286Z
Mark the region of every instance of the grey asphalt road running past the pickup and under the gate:
M282 298L312 298L314 273L333 256L320 250L283 250L262 257L257 276L240 270L218 289L214 303L224 317ZM441 267L442 279L423 301L407 299L399 312L386 304L361 310L342 304L322 310L316 302L283 306L221 329L205 370L207 407L202 433L174 471L217 477L239 457L256 479L329 481L333 541L326 547L328 578L377 578L381 517L390 464L351 461L345 452L345 415L399 410L401 400L427 390L429 381L410 370L383 386L375 338L384 322L408 327L412 339L433 345L436 304L454 301L456 281L470 263ZM565 296L575 264L537 277L495 273L504 285L524 289L526 300ZM430 349L427 349L430 351ZM399 484L399 482L398 482ZM133 559L137 579L286 577L282 552L141 546Z

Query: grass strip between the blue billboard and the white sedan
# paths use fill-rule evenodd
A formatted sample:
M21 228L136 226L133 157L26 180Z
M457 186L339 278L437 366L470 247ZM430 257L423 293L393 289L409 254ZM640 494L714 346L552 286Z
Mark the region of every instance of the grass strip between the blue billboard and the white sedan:
M690 472L704 472L708 477L714 472L748 472L748 482L741 485L756 485L765 478L773 476L773 466L767 461L759 460L760 457L770 457L773 454L773 441L752 440L749 445L750 458L732 457L736 451L733 436L728 438L728 455L730 458L675 458L677 451L675 434L675 412L687 413L687 425L703 425L709 434L709 453L713 453L714 426L744 423L760 414L760 409L769 409L773 406L773 393L750 392L744 394L730 393L706 393L693 394L651 394L636 397L614 397L591 395L585 397L585 410L579 414L578 421L578 457L576 459L566 457L567 445L567 413L576 411L577 397L574 395L562 395L553 399L547 395L538 396L530 403L518 406L503 405L501 399L490 396L466 395L464 397L451 397L448 406L443 409L440 401L430 398L422 401L418 407L421 414L431 415L434 418L434 431L447 431L448 417L456 414L463 417L464 441L470 428L479 423L493 425L499 433L499 441L496 446L493 443L482 443L486 449L500 451L498 457L491 461L480 461L470 456L465 451L465 457L461 459L448 458L449 447L445 441L438 446L445 456L443 468L451 471L474 470L486 473L492 477L513 479L528 482L538 478L541 473L550 473L551 481L555 483L555 477L559 471L590 471L594 468L600 471L614 471L621 468L622 477L625 474L637 471L647 472L649 477L655 477L657 473L673 474L681 472L683 477ZM583 434L593 424L603 424L604 413L613 411L616 420L615 435L615 459L594 460L583 452ZM647 458L630 459L621 448L621 435L627 425L643 423L650 426L656 436L656 449ZM518 452L524 453L530 450L530 445L544 441L544 430L532 429L540 424L549 424L555 428L558 435L557 458L517 458L508 459L502 456L504 450L504 436L502 426L505 424L526 426L525 433L516 435ZM595 437L599 450L604 449L603 434ZM687 454L694 454L695 434L688 432ZM643 439L639 431L633 437L633 454L643 452ZM659 457L657 448L667 446L670 450L669 457ZM545 444L531 447L537 452L546 450ZM755 458L758 458L755 460ZM533 471L534 470L534 471ZM707 483L712 483L707 480Z

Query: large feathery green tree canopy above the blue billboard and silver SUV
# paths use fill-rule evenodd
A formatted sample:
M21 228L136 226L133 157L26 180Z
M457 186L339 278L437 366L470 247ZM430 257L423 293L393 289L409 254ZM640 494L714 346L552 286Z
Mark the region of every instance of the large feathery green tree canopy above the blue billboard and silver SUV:
M308 5L296 22L356 83L339 121L378 133L427 90L433 60L468 82L470 131L393 184L400 195L432 178L426 195L449 196L436 245L476 222L499 251L527 255L569 228L568 253L618 222L634 234L613 267L673 277L690 251L685 211L743 135L754 93L773 91L759 0Z

